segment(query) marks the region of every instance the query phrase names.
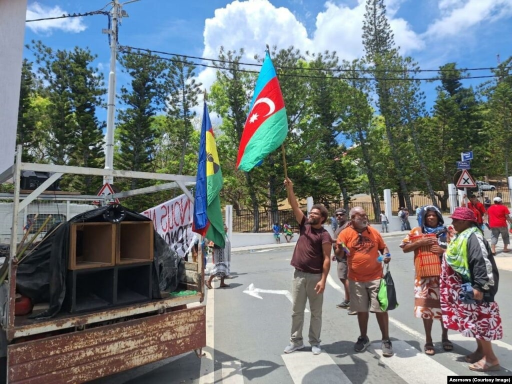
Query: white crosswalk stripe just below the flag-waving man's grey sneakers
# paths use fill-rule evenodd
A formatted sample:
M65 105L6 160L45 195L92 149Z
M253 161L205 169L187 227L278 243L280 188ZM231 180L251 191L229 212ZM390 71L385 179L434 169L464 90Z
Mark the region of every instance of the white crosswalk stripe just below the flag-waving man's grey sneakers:
M323 384L351 384L347 375L328 353L314 356L311 351L296 351L281 355L295 384L322 382Z

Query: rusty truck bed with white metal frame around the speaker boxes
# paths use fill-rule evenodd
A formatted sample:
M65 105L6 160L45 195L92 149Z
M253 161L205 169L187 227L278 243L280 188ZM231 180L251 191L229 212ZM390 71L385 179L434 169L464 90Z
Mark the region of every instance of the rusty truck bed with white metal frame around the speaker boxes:
M22 203L20 173L23 169L54 172ZM16 163L0 174L0 183L14 180L13 223L23 207L55 181L55 177L71 173L112 177L164 180L144 190L123 192L133 196L151 191L180 187L190 199L186 186L195 178L122 170L23 163L18 146ZM58 175L58 176L55 176ZM121 195L121 194L120 194ZM113 198L116 196L114 195ZM195 351L198 357L206 345L206 308L203 304L203 258L186 262L180 284L197 293L147 300L142 303L110 309L76 313L58 313L50 319L35 320L15 316L16 233L11 233L8 278L0 285L0 299L6 304L1 313L0 357L5 366L5 379L14 383L81 383L112 375L142 365ZM199 361L199 360L198 360Z

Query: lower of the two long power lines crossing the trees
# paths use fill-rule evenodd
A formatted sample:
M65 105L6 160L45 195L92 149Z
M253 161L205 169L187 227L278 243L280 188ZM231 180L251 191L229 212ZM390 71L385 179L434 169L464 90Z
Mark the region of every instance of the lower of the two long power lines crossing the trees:
M123 46L121 51L124 51L126 49L137 49L137 50L140 50L139 48ZM139 56L146 56L146 57L151 57L151 58L159 58L159 59L166 60L166 61L171 61L171 62L178 62L178 63L184 63L184 64L190 64L191 63L194 66L199 66L199 67L222 69L222 68L220 68L218 66L215 66L215 65L208 65L208 64L204 64L204 63L190 62L190 61L186 61L186 60L179 60L179 59L174 59L174 58L169 58L169 57L162 57L162 56L152 55L153 52L156 53L157 51L151 51L151 50L146 50L146 49L144 49L144 51L146 51L148 53L133 52L133 51L131 53L139 55ZM188 57L188 56L185 56L185 55L175 55L175 56ZM210 60L210 59L204 59L204 60ZM211 61L222 61L222 60L211 60ZM225 63L234 63L233 61L223 61L223 62L225 62ZM252 65L254 66L254 64L252 64ZM261 67L261 65L256 65L256 66ZM298 68L298 67L279 67L279 66L276 66L276 68L280 68L280 69L288 68L288 69L293 69L293 70L302 70L303 69L303 68ZM246 70L246 69L236 69L235 71L237 71L237 72L244 72L244 73L259 73L259 71L251 71L251 70ZM360 71L344 70L344 71L339 71L339 72L360 72ZM405 73L407 71L397 71L397 72ZM350 77L350 76L314 76L314 75L287 74L286 72L281 72L279 75L280 76L285 76L285 77L302 77L302 78L312 78L312 79L361 80L361 81L370 81L370 80L379 80L379 81L386 81L386 80L387 81L396 81L396 80L436 81L436 80L442 80L442 79L445 79L445 80L465 80L465 79L484 79L484 78L492 78L492 77L498 77L499 76L499 75L486 75L486 76L457 76L457 77L444 77L444 78L441 78L441 77L431 77L431 78L424 78L424 77L421 77L421 78L416 78L416 77L378 78L378 77Z

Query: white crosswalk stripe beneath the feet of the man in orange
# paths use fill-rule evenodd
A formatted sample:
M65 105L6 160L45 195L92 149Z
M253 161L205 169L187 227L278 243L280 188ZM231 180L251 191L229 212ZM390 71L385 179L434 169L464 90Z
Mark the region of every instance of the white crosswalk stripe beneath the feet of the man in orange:
M416 348L401 340L393 342L395 354L382 357L381 343L373 343L370 350L380 357L380 362L410 384L428 384L445 382L446 376L457 376L436 360L418 351Z

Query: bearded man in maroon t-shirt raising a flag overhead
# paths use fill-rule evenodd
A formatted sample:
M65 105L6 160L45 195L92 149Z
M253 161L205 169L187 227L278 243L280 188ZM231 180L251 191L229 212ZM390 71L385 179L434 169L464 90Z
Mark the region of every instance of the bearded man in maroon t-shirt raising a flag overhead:
M306 302L309 301L311 311L309 344L311 344L311 352L317 355L322 352L320 348L322 305L325 283L331 267L332 239L322 225L327 220L328 212L322 204L314 204L306 219L293 193L293 183L286 178L284 185L300 231L290 263L295 268L292 286L292 324L290 344L286 346L284 352L291 353L304 348L302 328Z

